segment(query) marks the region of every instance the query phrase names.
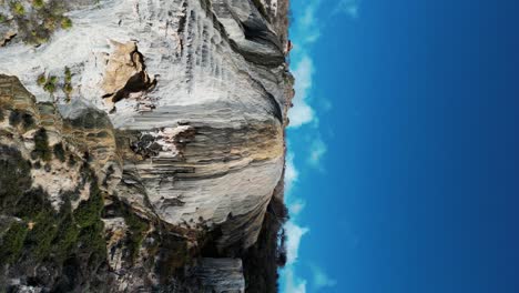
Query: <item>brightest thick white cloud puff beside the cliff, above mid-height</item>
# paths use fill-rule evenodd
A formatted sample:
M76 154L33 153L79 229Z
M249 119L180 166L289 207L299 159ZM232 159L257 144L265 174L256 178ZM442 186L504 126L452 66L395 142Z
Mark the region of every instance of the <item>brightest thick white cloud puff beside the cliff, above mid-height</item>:
M295 97L294 107L288 112L291 128L298 128L312 122L315 118L315 111L308 104L308 97L312 90L312 77L314 75L314 62L304 54L294 68Z

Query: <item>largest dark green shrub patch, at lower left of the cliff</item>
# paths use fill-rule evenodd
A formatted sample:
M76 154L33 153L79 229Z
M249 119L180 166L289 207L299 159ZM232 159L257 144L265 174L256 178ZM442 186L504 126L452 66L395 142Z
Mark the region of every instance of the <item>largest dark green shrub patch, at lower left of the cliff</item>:
M7 152L9 154L9 149ZM0 168L3 166L1 163L0 160ZM102 233L104 226L101 221L103 199L95 183L96 179L90 169L85 169L91 174L88 178L91 194L74 212L69 200L70 194L62 195L64 203L61 211L57 212L41 188L27 192L17 191L19 198L13 208L3 209L2 205L2 213L20 218L22 222L12 224L0 241L0 263L16 262L22 255L37 263L45 260L59 263L70 255L83 255L83 261L94 266L105 260L106 247ZM4 179L0 179L4 183Z

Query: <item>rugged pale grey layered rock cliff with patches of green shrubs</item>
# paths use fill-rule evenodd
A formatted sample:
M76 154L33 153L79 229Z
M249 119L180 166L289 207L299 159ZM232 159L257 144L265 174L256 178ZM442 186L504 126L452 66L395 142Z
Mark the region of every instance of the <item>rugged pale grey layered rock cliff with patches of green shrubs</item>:
M0 1L0 289L275 291L287 7Z

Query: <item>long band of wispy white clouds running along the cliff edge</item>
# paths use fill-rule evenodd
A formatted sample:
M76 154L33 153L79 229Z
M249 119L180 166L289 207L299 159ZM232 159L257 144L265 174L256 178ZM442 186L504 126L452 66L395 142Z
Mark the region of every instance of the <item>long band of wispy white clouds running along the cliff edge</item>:
M315 44L322 32L322 21L317 18L317 11L320 8L322 0L308 0L305 7L296 17L295 23L292 26L292 37L294 41L294 50L291 53L292 71L295 78L295 97L293 100L294 107L288 112L291 121L289 128L297 131L307 131L311 135L315 135L315 143L308 149L311 155L307 159L309 164L318 166L323 155L326 153L327 146L320 139L318 132L318 117L314 108L313 87L315 77L314 60L312 59L312 47ZM307 125L313 127L307 127ZM302 239L309 233L309 229L299 224L298 215L305 209L305 201L295 196L294 185L298 183L299 170L297 169L297 160L294 155L294 148L288 143L288 152L286 158L285 169L285 191L286 203L291 213L291 220L285 224L285 233L287 235L286 251L287 263L282 271L283 286L282 292L285 293L306 293L308 281L297 274L297 260ZM304 159L299 159L304 162ZM324 275L326 276L326 275ZM330 284L332 279L316 279L319 284ZM320 285L323 286L323 285Z

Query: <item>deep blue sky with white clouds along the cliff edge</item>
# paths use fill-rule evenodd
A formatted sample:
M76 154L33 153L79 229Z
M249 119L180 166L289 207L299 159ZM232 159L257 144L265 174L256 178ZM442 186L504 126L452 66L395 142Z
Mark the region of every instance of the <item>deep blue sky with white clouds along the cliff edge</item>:
M292 0L282 292L519 292L518 8Z

